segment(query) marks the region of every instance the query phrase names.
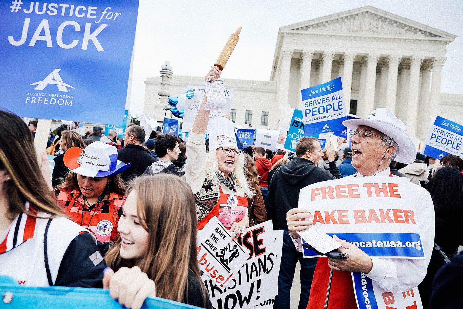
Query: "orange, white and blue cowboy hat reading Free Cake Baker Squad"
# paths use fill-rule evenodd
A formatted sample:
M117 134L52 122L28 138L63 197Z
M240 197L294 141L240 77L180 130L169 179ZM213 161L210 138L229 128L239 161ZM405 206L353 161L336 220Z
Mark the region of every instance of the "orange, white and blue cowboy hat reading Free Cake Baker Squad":
M117 149L95 141L87 148L71 147L64 153L64 165L85 177L104 178L123 172L130 167L117 159Z

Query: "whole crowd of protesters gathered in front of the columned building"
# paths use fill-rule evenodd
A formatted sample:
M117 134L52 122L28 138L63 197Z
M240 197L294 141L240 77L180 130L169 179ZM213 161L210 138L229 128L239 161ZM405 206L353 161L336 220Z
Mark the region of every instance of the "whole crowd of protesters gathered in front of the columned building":
M206 79L220 73L212 67ZM206 101L205 95L201 107ZM198 230L217 217L234 240L271 220L283 231L275 309L290 308L297 263L299 309L323 308L330 270L328 308L357 308L351 271L386 291L418 286L424 308L461 305L448 291L463 278L457 254L463 245L462 158L437 161L416 152L407 127L385 108L343 123L351 130L350 145L338 138L322 149L318 139L303 137L295 153L238 149L232 121L210 120L203 109L186 142L156 131L147 137L135 124L123 139L116 132L105 136L100 126L81 136L63 124L47 149L56 156L50 177L46 153L40 165L36 159L37 121L27 126L0 111L0 273L31 286L106 288L128 308L140 308L147 296L212 308L197 262ZM313 214L299 207L300 189L375 176L414 183L407 194L416 202L425 259L370 257L337 238L349 259L303 258L297 232L312 225ZM237 199L240 215L224 207L230 199ZM447 265L442 252L452 259Z

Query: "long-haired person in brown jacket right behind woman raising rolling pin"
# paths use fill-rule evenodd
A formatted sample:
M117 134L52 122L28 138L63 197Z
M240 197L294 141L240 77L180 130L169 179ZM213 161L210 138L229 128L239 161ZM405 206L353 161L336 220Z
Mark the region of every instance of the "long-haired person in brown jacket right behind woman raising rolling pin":
M254 158L252 158L249 154L245 153L244 160L244 173L254 192L254 195L252 197L248 197L248 218L249 226L251 227L266 221L267 211L265 210L262 192L259 188L259 175L257 173L256 164L254 163Z

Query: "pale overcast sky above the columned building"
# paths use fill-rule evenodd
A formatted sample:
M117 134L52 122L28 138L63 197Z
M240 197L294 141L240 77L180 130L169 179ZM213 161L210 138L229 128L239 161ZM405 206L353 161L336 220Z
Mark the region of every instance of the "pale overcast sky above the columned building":
M175 75L205 76L238 26L222 77L268 81L278 28L367 5L457 35L447 45L441 91L463 94L462 0L140 0L130 112L143 114L144 81L159 76L164 61Z

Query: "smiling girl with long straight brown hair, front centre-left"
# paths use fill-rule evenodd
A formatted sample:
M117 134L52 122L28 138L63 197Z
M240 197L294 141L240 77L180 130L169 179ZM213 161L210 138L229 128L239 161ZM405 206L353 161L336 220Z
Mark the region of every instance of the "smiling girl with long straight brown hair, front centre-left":
M113 271L139 267L154 281L156 296L211 308L200 278L196 206L188 183L180 177L161 173L137 177L127 190L122 209L120 238L105 254L106 264L112 268L105 272L105 286L121 282L137 284L138 278L144 277L141 273L129 278L117 273L112 275ZM119 296L117 292L111 295ZM141 298L125 305L139 308L143 303Z

